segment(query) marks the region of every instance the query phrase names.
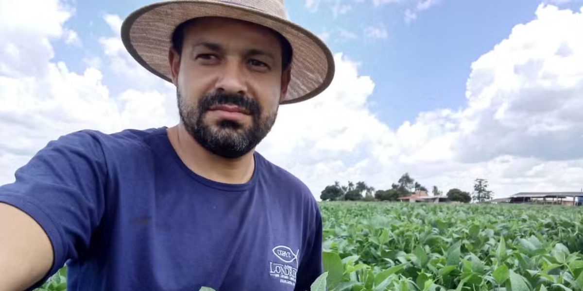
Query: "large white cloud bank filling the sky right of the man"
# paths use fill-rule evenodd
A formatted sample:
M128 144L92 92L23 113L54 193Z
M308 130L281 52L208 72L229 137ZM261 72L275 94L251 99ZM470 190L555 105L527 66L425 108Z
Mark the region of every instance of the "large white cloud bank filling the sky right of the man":
M446 191L470 191L474 179L486 178L498 197L578 190L583 175L578 27L581 13L539 6L535 20L514 27L507 40L472 64L465 108L422 112L398 129L368 110L372 80L336 55L331 87L313 100L282 107L260 150L300 176L315 196L334 180L365 180L382 189L403 172Z

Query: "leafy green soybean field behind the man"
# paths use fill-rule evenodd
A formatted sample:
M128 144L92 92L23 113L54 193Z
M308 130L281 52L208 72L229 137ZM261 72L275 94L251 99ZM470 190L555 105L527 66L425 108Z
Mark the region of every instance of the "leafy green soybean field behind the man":
M324 202L320 208L325 273L312 291L583 290L583 207ZM41 290L65 290L59 273Z

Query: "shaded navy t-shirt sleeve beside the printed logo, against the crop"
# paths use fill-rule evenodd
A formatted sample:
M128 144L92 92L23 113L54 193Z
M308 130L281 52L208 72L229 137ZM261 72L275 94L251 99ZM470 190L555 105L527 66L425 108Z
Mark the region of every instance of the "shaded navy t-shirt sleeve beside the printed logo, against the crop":
M315 204L315 202L314 202ZM315 215L312 221L314 225L311 233L311 247L300 258L300 265L297 270L297 283L295 291L310 290L310 286L315 279L322 274L322 217L318 210L317 204L315 207Z

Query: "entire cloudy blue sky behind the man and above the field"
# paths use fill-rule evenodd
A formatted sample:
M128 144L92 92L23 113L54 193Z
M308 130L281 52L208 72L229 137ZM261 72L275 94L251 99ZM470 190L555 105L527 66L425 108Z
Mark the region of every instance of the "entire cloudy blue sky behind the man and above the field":
M152 1L0 0L0 184L48 141L173 126L175 88L125 51ZM294 0L335 56L331 86L282 105L257 150L315 197L338 180L495 197L583 188L582 0Z

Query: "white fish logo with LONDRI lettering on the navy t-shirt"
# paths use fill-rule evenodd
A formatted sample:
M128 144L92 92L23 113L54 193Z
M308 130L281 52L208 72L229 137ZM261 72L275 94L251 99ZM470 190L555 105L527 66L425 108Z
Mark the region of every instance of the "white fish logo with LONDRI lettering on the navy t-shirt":
M282 245L274 247L272 252L279 261L269 261L269 275L280 283L295 286L300 250L294 253L290 247Z

